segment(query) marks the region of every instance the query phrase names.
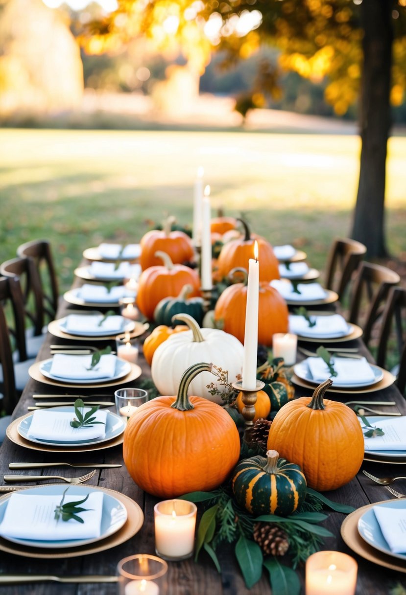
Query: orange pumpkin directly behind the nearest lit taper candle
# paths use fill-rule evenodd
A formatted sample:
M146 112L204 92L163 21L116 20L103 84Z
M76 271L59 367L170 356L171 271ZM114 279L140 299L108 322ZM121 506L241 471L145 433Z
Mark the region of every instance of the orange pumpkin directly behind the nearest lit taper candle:
M246 271L244 273L246 278ZM214 308L214 321L226 333L237 337L241 343L244 342L245 334L245 309L246 282L235 283L224 289ZM287 333L288 327L288 306L286 306L285 300L268 283L260 283L258 343L272 345L273 334Z

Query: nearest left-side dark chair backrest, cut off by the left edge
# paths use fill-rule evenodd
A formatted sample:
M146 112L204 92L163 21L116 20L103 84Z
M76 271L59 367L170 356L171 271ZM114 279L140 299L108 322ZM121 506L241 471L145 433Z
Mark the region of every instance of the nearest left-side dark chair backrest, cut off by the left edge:
M17 405L13 353L3 308L3 303L10 299L10 280L5 277L0 277L0 364L3 372L3 381L1 385L3 398L0 402L0 408L4 409L7 414L11 414L15 405Z

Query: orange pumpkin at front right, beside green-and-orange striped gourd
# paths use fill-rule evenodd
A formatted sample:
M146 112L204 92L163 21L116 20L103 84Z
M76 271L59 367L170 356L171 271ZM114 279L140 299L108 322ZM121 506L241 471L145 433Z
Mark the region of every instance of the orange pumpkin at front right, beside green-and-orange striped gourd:
M357 415L347 405L323 399L330 378L312 397L283 405L273 419L268 449L301 466L307 485L336 490L352 480L364 458L364 434Z

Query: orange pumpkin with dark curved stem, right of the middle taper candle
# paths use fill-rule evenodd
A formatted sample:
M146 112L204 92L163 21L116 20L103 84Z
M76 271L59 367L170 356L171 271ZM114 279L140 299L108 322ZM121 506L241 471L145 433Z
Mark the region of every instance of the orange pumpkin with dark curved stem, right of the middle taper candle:
M267 240L261 236L251 237L248 225L242 221L245 235L240 239L224 243L218 256L218 271L221 277L227 277L235 267L242 267L248 270L248 260L254 257L254 242L258 242L260 261L260 281L272 281L279 279L279 261L274 255L273 248Z

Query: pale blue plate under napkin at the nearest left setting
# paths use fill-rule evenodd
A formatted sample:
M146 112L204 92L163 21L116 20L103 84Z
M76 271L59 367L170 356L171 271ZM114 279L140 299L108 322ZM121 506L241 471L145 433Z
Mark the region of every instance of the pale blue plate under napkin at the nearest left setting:
M32 488L28 488L26 490L21 491L21 494L35 494L35 496L52 496L53 494L62 494L66 489L65 484L60 485L52 485L52 486L36 486ZM81 498L85 497L86 494L89 494L93 491L102 491L95 487L90 486L69 486L69 494L70 496L79 496ZM0 501L0 523L3 520L5 511L7 509L8 500L11 497L11 493L8 494L8 497L3 498ZM58 549L60 547L80 547L84 546L87 543L95 543L95 541L101 541L106 537L113 535L116 533L121 527L123 527L124 523L127 521L127 509L120 502L110 494L103 492L103 509L102 509L102 519L101 519L101 533L100 537L93 537L91 539L76 539L76 540L60 540L60 541L43 541L43 540L33 540L33 539L17 539L14 537L7 537L2 535L2 537L8 541L13 541L13 543L21 543L24 546L30 547L45 547L47 549ZM60 521L63 522L63 521Z

